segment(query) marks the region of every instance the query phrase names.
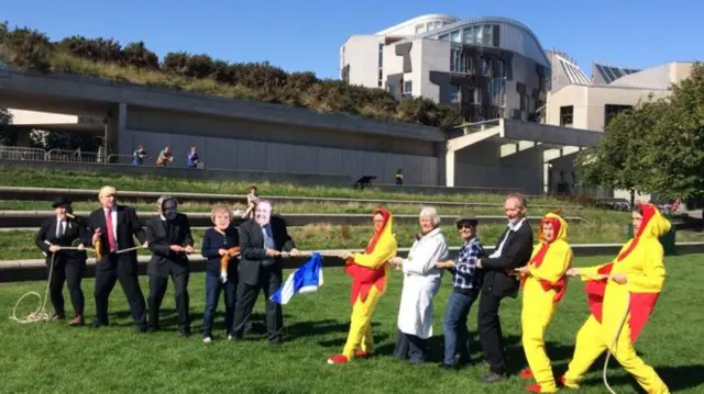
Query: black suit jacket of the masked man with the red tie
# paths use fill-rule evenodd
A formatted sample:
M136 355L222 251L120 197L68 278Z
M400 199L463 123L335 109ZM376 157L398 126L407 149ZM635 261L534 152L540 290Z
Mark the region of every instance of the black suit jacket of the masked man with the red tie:
M118 210L118 232L114 235L118 243L118 249L128 249L134 247L134 237L140 241L140 245L146 240L146 235L142 228L142 223L136 217L136 212L133 207L125 205L117 205ZM90 213L88 218L90 226L90 246L92 245L92 234L96 228L100 228L100 254L102 258L98 263L97 270L109 269L111 266L108 263L110 245L108 244L108 228L106 225L106 212L105 209L99 207ZM118 255L120 261L128 263L128 271L136 270L136 250L128 251Z

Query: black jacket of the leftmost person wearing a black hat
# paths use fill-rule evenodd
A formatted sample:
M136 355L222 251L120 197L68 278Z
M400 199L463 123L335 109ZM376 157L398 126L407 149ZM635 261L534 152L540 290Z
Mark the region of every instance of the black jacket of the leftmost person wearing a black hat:
M52 252L48 250L48 247L52 245L58 246L74 246L74 240L79 239L84 245L90 245L90 235L88 233L88 228L84 221L80 218L69 218L66 217L66 230L64 235L56 236L56 226L58 225L58 221L56 216L50 217L42 223L42 227L36 233L36 237L34 238L34 244L36 247L44 252L46 256L46 263L50 264L52 261ZM76 243L75 246L78 246ZM86 251L82 250L59 250L56 255L58 259L65 259L70 262L85 263L86 262ZM56 262L56 261L55 261Z

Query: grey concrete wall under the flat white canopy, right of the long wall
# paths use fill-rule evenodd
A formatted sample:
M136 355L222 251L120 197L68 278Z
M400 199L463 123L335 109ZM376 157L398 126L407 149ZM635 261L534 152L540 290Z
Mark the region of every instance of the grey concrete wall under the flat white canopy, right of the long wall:
M457 153L454 184L516 188L528 194L542 193L542 153L528 149L501 158L501 145L482 142Z

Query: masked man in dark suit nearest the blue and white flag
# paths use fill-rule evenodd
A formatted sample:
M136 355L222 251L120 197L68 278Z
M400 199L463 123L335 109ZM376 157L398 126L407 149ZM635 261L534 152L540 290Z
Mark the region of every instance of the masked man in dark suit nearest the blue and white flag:
M280 345L284 317L282 306L270 296L282 285L280 252L298 256L296 244L288 235L286 223L272 217L272 204L260 201L254 218L240 225L240 268L233 339L241 339L260 290L266 300L266 330L271 344Z

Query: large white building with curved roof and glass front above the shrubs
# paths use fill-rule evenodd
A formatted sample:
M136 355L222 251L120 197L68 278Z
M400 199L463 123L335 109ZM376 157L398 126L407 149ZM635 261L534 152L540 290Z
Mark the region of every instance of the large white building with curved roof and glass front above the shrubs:
M468 122L537 121L550 89L550 61L536 35L507 18L430 14L340 48L341 78L455 108Z

